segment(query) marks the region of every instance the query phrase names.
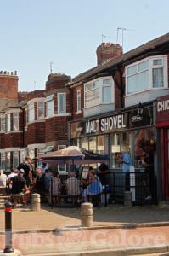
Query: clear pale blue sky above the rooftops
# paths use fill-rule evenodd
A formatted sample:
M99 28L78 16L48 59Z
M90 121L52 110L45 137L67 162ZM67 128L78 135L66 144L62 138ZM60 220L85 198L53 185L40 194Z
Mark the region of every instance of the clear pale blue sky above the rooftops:
M44 89L51 61L72 77L96 66L102 34L116 43L117 27L129 29L124 52L169 32L168 9L167 0L0 0L0 70L18 71L19 90Z

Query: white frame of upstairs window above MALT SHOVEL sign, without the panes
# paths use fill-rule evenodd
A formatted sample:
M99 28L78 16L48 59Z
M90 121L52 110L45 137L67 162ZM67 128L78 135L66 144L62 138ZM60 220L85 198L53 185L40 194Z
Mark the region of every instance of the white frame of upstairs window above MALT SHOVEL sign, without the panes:
M104 84L104 80L106 79L109 79L110 80L110 84ZM98 83L98 87L94 87L95 86L95 83ZM90 90L87 90L87 86L91 84L92 88ZM110 102L104 102L103 101L103 90L105 87L110 87ZM84 108L93 108L95 106L98 106L98 105L104 105L104 104L111 104L111 103L114 103L115 102L115 91L114 91L114 88L115 88L115 84L114 84L114 81L112 79L112 77L110 76L107 76L107 77L100 77L98 79L93 79L92 81L90 82L87 82L86 84L84 84ZM87 95L87 92L90 92L90 91L93 91L93 90L97 90L99 91L99 99L96 100L96 102L94 102L94 100L91 100L91 102L86 102L86 95Z

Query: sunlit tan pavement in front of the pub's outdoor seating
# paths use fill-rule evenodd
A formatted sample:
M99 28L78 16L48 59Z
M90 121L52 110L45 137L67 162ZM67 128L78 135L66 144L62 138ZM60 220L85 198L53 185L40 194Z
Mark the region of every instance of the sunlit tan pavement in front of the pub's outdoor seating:
M82 228L80 217L80 208L42 207L41 212L14 209L14 248L22 255L43 256L162 255L169 252L167 205L96 207L92 229ZM0 250L4 247L3 234L4 211L0 210Z

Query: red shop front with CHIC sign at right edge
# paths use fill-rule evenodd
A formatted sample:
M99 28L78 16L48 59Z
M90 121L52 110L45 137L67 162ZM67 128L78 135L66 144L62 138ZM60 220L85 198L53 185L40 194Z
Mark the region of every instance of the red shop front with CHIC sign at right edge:
M162 196L163 200L169 201L169 96L161 96L157 99L155 126L160 137L158 160L161 169Z

